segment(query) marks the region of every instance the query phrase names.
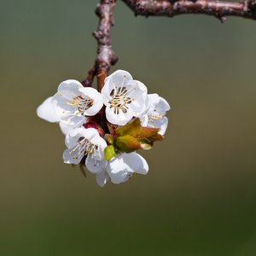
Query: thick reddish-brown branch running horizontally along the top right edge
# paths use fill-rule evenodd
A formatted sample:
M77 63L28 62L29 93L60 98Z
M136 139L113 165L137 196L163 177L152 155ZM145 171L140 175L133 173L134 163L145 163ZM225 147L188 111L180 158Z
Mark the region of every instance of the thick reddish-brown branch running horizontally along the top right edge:
M240 16L256 20L256 0L245 2L219 2L198 0L122 0L135 15L143 16L167 16L184 14L213 15L222 22L225 16Z

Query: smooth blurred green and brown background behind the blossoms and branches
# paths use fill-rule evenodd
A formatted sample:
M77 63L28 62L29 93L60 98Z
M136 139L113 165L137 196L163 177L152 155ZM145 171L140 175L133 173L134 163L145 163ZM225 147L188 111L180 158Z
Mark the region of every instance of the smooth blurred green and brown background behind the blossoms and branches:
M0 254L256 255L256 22L114 9L116 69L164 96L146 176L96 184L63 164L36 108L96 58L99 1L1 0Z

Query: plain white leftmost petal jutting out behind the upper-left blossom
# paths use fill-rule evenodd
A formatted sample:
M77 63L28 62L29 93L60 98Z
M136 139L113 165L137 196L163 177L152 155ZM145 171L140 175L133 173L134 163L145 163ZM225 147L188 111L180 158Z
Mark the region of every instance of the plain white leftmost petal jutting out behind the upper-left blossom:
M37 114L41 119L44 119L50 123L56 123L60 121L60 118L55 113L55 109L50 103L52 98L53 96L50 96L37 108Z

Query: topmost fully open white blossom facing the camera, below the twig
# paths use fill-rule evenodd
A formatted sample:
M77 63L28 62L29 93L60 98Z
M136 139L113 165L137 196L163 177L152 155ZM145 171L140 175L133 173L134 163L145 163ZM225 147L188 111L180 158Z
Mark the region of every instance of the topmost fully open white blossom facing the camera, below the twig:
M118 70L105 79L102 88L106 117L113 125L125 125L148 109L148 89L131 74Z

